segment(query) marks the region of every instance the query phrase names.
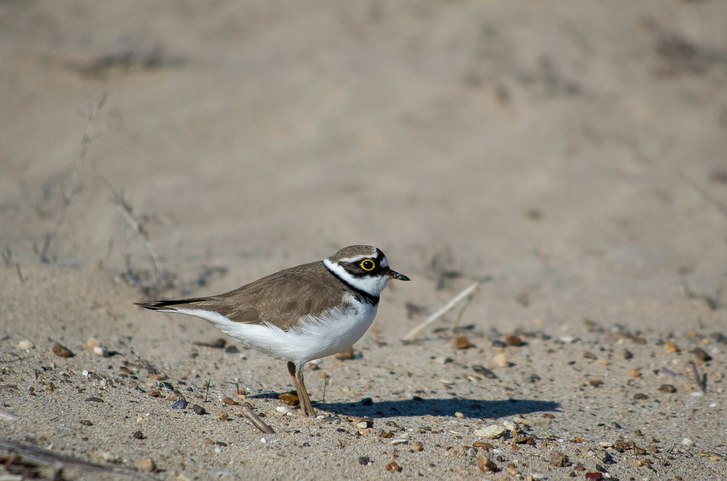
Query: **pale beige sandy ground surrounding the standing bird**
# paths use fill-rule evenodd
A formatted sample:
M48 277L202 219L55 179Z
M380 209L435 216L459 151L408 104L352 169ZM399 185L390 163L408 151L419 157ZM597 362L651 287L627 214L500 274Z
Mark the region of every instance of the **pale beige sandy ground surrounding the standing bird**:
M725 479L726 18L717 0L0 2L0 408L20 416L1 439L150 457L165 480ZM131 304L353 243L412 282L354 359L307 373L340 424L276 411L282 363ZM454 349L457 311L401 343L484 276L459 320L476 347ZM150 397L155 372L177 393ZM266 442L220 401L235 383ZM475 435L506 421L535 445Z

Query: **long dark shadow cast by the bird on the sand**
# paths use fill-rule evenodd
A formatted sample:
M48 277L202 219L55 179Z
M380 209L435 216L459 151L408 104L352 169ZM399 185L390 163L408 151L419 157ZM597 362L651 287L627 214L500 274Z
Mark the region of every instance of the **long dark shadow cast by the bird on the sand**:
M316 410L348 416L414 417L454 416L462 413L467 418L501 418L515 414L542 413L561 407L553 401L505 399L497 401L478 399L424 399L379 401L371 405L361 403L314 403Z

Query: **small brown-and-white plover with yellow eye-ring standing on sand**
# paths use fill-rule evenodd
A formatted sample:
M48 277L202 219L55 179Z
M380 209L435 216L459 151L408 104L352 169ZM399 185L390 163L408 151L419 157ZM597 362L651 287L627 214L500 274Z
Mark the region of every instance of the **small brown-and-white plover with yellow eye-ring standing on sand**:
M379 248L348 246L322 261L281 270L225 294L134 304L209 320L244 347L287 361L302 413L315 416L303 383L305 363L361 339L389 279L409 280L390 269Z

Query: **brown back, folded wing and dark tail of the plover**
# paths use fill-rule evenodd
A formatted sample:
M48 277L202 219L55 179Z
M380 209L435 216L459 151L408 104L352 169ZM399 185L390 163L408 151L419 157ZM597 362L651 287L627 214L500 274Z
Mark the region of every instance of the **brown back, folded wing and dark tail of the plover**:
M268 322L289 331L302 315L320 315L340 305L346 292L347 286L318 261L281 270L217 296L134 304L148 310L208 310L236 323Z

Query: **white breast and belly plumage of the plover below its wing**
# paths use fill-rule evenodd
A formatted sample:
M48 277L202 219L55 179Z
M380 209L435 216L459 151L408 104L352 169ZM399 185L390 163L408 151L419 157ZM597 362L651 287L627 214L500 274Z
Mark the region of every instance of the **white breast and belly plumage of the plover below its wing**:
M276 359L292 361L297 365L309 360L334 355L353 346L376 317L377 306L358 302L353 296L344 298L350 306L334 309L319 318L304 316L298 325L283 331L276 326L236 323L212 311L180 309L168 312L193 315L209 320L220 331L237 339L251 349L265 352Z

